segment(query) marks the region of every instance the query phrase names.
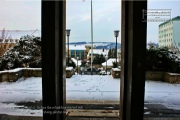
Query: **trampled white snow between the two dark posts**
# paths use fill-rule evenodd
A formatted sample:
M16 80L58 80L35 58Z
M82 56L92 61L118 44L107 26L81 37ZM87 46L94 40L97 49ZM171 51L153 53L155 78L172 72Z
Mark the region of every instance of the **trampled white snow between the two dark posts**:
M67 100L118 100L119 79L110 75L73 75L66 79Z

